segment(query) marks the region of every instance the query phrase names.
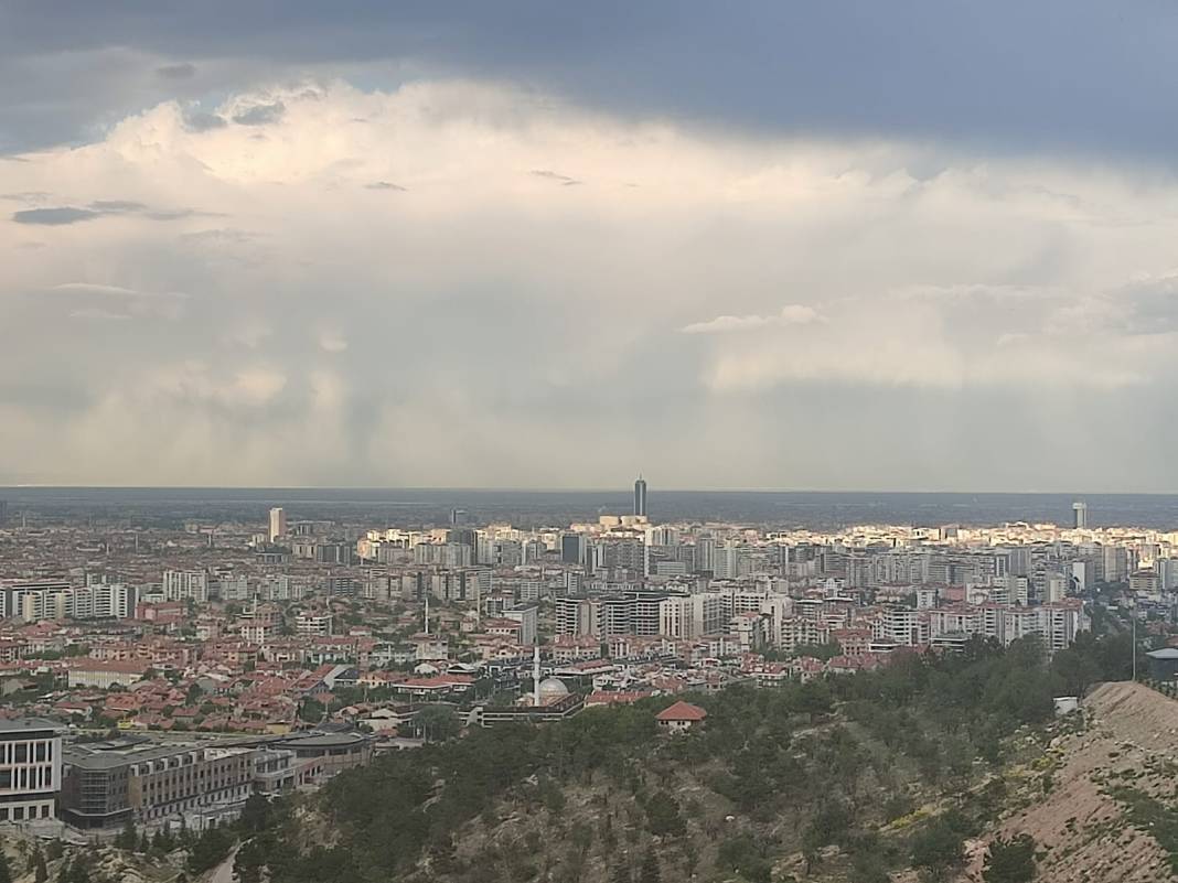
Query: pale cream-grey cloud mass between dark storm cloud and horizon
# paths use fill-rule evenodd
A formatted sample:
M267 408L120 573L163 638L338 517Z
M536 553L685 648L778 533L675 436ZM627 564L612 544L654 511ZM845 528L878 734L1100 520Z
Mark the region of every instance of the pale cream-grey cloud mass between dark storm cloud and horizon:
M1099 463L1106 489L1178 487L1166 174L969 152L968 128L605 113L492 64L307 91L283 57L241 74L265 88L151 105L168 59L223 74L196 49L114 71L134 107L107 105L100 144L0 164L15 208L125 218L41 227L38 252L0 224L6 370L54 397L0 392L0 460L28 480L607 484L641 447L679 485L1058 489ZM278 131L224 122L274 104ZM366 192L397 180L412 199ZM126 223L201 215L249 230Z

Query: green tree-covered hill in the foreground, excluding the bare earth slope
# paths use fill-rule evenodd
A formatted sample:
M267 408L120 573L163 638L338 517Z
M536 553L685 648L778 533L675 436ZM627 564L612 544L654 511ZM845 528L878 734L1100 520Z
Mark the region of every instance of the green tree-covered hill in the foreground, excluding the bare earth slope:
M1064 725L1052 697L1126 677L1129 652L1085 637L1051 663L1032 642L906 655L689 697L708 718L680 737L656 732L669 699L475 730L280 804L238 870L243 883L266 868L274 883L945 878L1012 799L1004 765ZM997 849L1030 861L1026 843Z

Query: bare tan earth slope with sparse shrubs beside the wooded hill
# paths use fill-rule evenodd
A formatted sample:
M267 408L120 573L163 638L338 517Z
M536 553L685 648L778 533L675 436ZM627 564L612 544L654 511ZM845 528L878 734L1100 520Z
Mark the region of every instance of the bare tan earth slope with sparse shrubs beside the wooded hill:
M1131 682L1097 688L1086 726L1058 737L1027 770L1021 808L998 834L1032 835L1043 883L1178 881L1178 702ZM1018 804L1015 804L1018 806ZM1149 831L1149 832L1146 832ZM1178 857L1178 856L1176 856ZM980 879L980 858L965 879Z

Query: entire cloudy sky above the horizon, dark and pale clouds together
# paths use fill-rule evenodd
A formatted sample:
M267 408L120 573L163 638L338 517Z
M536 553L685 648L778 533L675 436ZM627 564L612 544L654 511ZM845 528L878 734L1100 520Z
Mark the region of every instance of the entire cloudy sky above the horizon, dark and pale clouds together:
M0 0L0 484L1178 492L1178 7L438 6Z

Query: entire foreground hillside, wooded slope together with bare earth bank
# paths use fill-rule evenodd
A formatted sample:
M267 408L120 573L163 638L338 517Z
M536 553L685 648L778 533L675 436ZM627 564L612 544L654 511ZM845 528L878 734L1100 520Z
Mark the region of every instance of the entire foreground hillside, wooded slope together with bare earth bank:
M317 795L252 801L240 822L199 838L66 848L46 876L1026 883L1034 870L1044 883L1178 881L1178 702L1104 683L1079 713L1053 713L1053 696L1123 676L1126 650L1114 637L1085 638L1050 664L1018 642L901 655L871 673L687 697L707 719L682 736L655 722L671 697L468 730ZM234 843L236 861L221 863ZM20 883L37 877L32 849L5 843ZM995 855L1012 862L1002 874L986 869Z

